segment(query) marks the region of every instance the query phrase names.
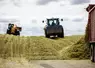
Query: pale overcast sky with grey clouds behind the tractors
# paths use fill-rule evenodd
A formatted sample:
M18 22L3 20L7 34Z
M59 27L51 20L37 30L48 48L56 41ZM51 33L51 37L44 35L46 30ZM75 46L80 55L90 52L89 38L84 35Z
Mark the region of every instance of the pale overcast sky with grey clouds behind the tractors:
M83 35L87 24L86 7L95 0L0 0L0 34L8 23L22 27L23 36L42 36L46 18L60 18L65 36Z

